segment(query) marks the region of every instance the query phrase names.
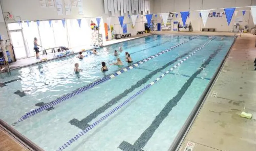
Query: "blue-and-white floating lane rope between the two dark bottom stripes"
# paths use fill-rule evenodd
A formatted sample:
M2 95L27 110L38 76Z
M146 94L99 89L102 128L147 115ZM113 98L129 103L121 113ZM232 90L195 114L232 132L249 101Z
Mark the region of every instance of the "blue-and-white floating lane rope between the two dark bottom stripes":
M63 149L67 148L68 146L70 146L73 142L75 142L76 140L78 140L80 137L82 137L83 135L85 135L86 133L88 133L91 129L93 129L94 127L96 127L99 123L101 123L102 121L104 121L106 118L108 118L109 116L111 116L112 114L114 114L114 112L116 112L117 110L119 110L120 108L122 108L124 105L126 105L127 103L129 103L131 100L133 100L134 98L136 98L138 95L140 95L143 91L145 91L146 89L148 89L149 87L151 87L152 85L154 85L157 81L159 81L161 78L163 78L166 74L168 74L170 71L174 70L175 68L177 68L178 66L180 66L184 61L186 61L188 58L190 58L191 56L193 56L194 54L196 54L198 51L200 51L202 48L204 48L207 44L209 44L212 40L214 40L216 38L213 37L213 39L209 40L208 42L206 42L204 45L202 45L200 48L198 48L197 50L195 50L193 53L191 53L190 55L188 55L186 58L184 58L183 60L181 60L179 63L177 63L176 65L174 65L171 69L169 69L168 71L166 71L164 74L162 74L161 76L159 76L158 78L156 78L156 80L152 81L150 84L146 85L144 88L142 88L140 91L138 91L137 93L133 94L131 97L129 97L127 100L125 100L123 103L121 103L120 105L118 105L117 107L115 107L114 109L112 109L110 112L108 112L107 114L105 114L103 117L101 117L100 119L98 119L97 121L95 121L92 125L89 125L85 130L80 131L76 136L74 136L73 138L71 138L70 140L68 140L66 143L64 143L62 146L60 146L56 151L62 151Z

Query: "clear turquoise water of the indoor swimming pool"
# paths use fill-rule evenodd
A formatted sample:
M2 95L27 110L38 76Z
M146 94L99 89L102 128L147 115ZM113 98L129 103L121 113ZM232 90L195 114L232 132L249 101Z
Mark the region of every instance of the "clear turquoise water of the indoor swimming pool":
M0 118L45 151L168 151L233 41L156 34L2 73Z

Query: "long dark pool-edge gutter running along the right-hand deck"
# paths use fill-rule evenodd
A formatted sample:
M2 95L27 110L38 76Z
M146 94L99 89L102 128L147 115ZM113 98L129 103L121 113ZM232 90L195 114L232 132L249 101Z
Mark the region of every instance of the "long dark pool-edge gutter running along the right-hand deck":
M215 83L215 81L217 80L217 77L220 74L221 69L223 68L235 42L237 41L237 36L235 37L233 44L231 45L231 47L229 48L226 56L223 58L221 64L219 65L218 69L215 71L213 78L211 79L211 81L209 82L209 84L207 85L206 89L204 90L203 94L201 95L199 101L197 102L197 104L194 106L193 110L191 111L190 115L188 116L187 120L185 121L184 125L182 126L182 128L180 129L179 133L177 134L177 136L175 137L174 141L172 142L171 146L169 147L168 151L178 151L182 142L184 141L189 129L191 128L191 126L193 125L199 111L201 110L206 97L209 95L213 84Z

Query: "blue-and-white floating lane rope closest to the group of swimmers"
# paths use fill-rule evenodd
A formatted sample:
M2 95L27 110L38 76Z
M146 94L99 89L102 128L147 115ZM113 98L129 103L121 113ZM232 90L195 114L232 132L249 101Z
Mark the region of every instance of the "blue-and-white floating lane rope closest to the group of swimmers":
M198 35L198 36L199 36L199 35ZM150 57L148 57L148 58L146 58L146 59L143 59L143 60L141 60L141 61L138 61L138 62L134 63L133 65L131 65L131 66L129 66L129 67L126 67L126 68L124 68L124 69L122 69L122 70L120 70L120 71L115 72L114 74L111 74L111 75L109 75L109 76L105 76L105 77L103 77L103 78L101 78L101 79L99 79L99 80L97 80L97 81L95 81L95 82L93 82L93 83L91 83L91 84L89 84L89 85L86 85L86 86L84 86L84 87L82 87L82 88L79 88L79 89L75 90L75 91L72 92L72 93L66 94L66 95L64 95L64 96L62 96L62 97L57 98L57 99L54 100L54 101L51 101L51 102L49 102L49 103L47 103L47 104L45 104L45 105L43 105L43 106L40 106L40 107L38 107L38 108L36 108L36 109L33 109L33 110L31 110L30 112L28 112L28 113L26 113L25 115L23 115L21 118L19 118L18 121L17 121L17 122L14 122L12 125L15 126L15 125L17 125L19 122L22 122L23 120L26 120L26 119L28 119L28 118L30 118L30 117L32 117L32 116L34 116L34 115L36 115L36 114L42 112L43 110L46 110L46 109L48 109L48 108L50 108L50 107L52 107L52 106L55 106L55 105L57 105L57 104L59 104L59 103L61 103L61 102L63 102L63 101L66 101L67 99L69 99L69 98L71 98L71 97L73 97L73 96L76 96L76 95L78 95L78 94L80 94L80 93L82 93L82 92L84 92L84 91L87 91L88 89L91 89L91 88L95 87L96 85L98 85L98 84L100 84L100 83L103 83L103 82L108 81L108 80L110 80L110 79L112 79L112 78L115 78L116 76L118 76L118 75L120 75L120 74L122 74L122 73L124 73L124 72L127 72L128 70L131 70L131 69L133 69L134 67L137 67L137 66L139 66L140 64L143 64L144 62L147 62L147 61L149 61L149 60L151 60L151 59L154 59L154 58L156 58L156 57L158 57L158 56L160 56L160 55L162 55L162 54L164 54L164 53L166 53L166 52L169 52L169 51L173 50L174 48L177 48L177 47L179 47L179 46L181 46L181 45L183 45L183 44L185 44L185 43L187 43L187 42L189 42L189 41L191 41L191 40L197 38L198 36L194 36L194 37L192 37L191 39L186 40L186 41L184 41L184 42L181 42L181 43L179 43L179 44L177 44L177 45L175 45L175 46L172 46L171 48L169 48L169 49L167 49L167 50L164 50L164 51L162 51L162 52L160 52L160 53L157 53L157 54L155 54L155 55L152 55L152 56L150 56Z

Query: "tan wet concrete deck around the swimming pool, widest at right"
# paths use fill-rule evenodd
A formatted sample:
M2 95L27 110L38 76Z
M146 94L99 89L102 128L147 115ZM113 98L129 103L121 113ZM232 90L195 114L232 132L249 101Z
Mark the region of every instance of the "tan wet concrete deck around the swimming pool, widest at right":
M157 33L234 35L230 32ZM136 37L110 41L107 45ZM195 143L193 151L256 150L256 71L253 63L256 57L255 41L256 37L251 34L238 37L179 151L184 151L188 141ZM30 59L27 60L27 65L37 61L34 57L27 59ZM18 63L16 65L19 66ZM255 119L241 118L242 111L254 114ZM26 151L24 146L1 129L0 150Z

